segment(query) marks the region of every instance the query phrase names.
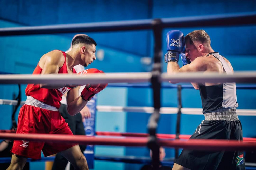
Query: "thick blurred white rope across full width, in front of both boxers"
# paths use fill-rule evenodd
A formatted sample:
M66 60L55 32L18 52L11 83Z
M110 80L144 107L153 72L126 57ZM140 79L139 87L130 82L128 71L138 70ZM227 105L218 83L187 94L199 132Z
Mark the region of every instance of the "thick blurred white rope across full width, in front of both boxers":
M123 82L149 82L151 72L129 72L129 73L94 73L86 76L67 75L67 74L8 74L0 75L0 84L86 84L86 83L123 83ZM235 72L234 74L218 74L189 72L167 75L161 74L161 81L172 82L243 82L256 83L256 71Z

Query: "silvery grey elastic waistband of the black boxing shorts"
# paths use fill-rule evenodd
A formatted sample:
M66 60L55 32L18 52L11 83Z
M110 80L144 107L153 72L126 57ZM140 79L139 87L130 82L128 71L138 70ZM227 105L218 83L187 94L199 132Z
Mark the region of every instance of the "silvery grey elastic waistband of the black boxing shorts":
M237 117L236 108L222 108L215 111L210 111L204 114L204 120L227 120L236 121L239 120Z

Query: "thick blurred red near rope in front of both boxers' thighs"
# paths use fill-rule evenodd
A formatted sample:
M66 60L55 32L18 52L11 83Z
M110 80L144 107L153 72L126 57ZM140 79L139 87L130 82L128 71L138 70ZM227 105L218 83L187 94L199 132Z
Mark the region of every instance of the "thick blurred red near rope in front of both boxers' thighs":
M94 137L85 135L58 135L58 134L13 134L0 133L0 139L26 140L26 141L48 141L79 143L90 145L112 145L112 146L146 146L146 137ZM184 148L194 150L256 150L256 142L241 142L234 140L217 139L190 139L187 141L175 139L159 139L160 146L172 148Z

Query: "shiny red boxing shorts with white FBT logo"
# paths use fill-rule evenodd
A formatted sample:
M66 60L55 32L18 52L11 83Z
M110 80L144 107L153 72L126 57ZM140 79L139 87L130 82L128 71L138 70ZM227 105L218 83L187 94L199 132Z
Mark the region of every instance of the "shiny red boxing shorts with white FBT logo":
M17 133L73 135L57 108L53 107L56 110L51 110L52 106L49 107L50 109L45 109L33 105L23 105L19 112ZM40 159L41 150L46 157L71 148L74 145L76 144L14 140L11 152L18 156Z

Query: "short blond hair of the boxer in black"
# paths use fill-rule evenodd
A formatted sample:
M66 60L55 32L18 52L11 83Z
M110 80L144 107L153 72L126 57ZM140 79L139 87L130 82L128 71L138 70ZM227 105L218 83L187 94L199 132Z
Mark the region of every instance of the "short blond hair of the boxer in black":
M185 36L185 41L189 40L190 44L194 42L211 44L210 36L204 30L195 30Z

